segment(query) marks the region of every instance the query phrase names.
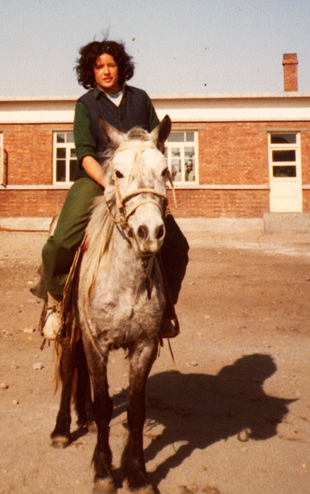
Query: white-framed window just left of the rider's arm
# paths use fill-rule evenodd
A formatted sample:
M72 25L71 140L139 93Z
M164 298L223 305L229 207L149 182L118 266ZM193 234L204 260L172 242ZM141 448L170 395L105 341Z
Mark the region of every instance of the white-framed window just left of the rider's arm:
M54 183L71 184L77 166L72 132L54 133Z

